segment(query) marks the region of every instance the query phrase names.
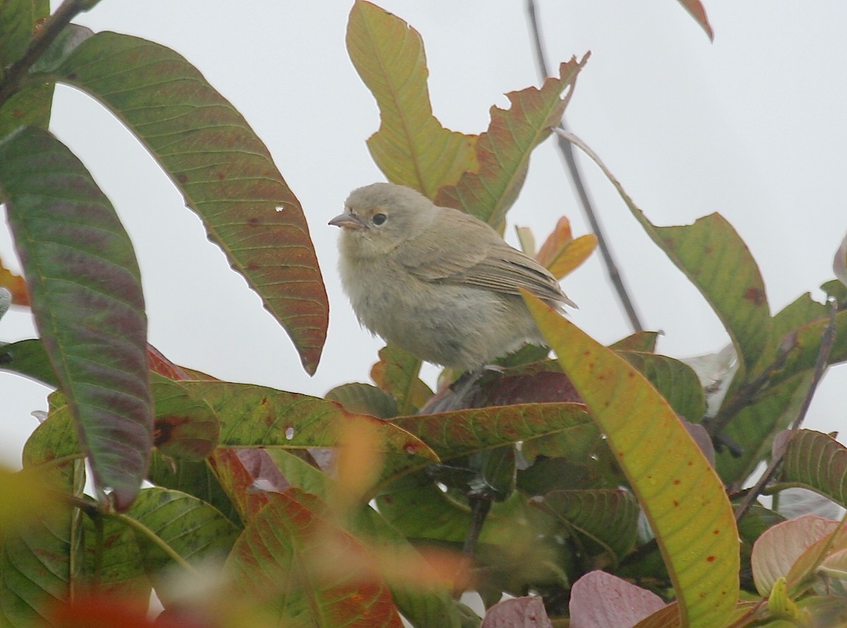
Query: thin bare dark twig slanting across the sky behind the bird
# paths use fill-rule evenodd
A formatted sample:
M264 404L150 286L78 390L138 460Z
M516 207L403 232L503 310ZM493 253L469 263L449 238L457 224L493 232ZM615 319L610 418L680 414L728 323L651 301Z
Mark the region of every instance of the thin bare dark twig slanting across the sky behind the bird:
M545 80L545 78L549 75L549 72L544 47L541 43L541 31L538 25L534 0L527 0L527 14L529 14L529 25L531 26L533 33L535 60L538 63L541 80ZM562 122L559 126L562 130L567 129L564 118L562 118ZM617 270L617 264L612 257L612 251L606 243L606 236L603 234L603 229L601 228L600 221L597 218L594 203L590 199L588 190L584 184L582 172L579 169L579 164L573 155L573 146L571 146L570 142L565 140L561 135L556 136L556 140L558 142L557 146L559 147L559 153L562 155L562 159L567 165L567 172L570 174L571 185L573 185L573 189L576 191L577 196L579 196L579 204L582 206L585 218L591 225L591 230L597 236L597 247L600 249L603 262L606 264L606 273L609 275L609 281L612 282L612 286L614 286L615 291L617 292L617 298L621 301L623 310L626 311L629 324L632 326L633 331L640 332L644 329L644 327L641 325L638 313L635 311L633 302L629 298L627 287L623 283L623 277L621 276L620 271Z

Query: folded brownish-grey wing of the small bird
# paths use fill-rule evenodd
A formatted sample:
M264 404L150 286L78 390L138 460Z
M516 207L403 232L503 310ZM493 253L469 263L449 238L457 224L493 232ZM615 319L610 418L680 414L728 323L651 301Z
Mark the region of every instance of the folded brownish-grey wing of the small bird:
M409 273L424 281L509 295L518 295L523 288L541 299L573 306L551 273L507 245L487 225L462 212L454 214L450 223L451 229L440 229L438 238L428 230L415 239L413 253L404 251L401 263Z

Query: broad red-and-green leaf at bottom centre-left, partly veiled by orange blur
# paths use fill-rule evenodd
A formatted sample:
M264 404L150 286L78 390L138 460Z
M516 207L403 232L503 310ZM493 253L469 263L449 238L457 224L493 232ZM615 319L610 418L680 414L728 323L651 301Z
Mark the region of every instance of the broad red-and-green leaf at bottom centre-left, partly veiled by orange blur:
M362 544L305 493L268 493L226 566L276 625L400 628L400 615ZM293 624L292 624L293 625Z

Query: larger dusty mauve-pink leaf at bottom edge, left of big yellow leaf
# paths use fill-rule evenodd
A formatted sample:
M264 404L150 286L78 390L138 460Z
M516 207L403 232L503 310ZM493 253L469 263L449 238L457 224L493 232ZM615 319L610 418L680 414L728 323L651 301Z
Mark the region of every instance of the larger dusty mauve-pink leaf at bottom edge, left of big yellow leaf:
M571 589L571 628L626 628L665 603L656 593L605 571L590 571Z

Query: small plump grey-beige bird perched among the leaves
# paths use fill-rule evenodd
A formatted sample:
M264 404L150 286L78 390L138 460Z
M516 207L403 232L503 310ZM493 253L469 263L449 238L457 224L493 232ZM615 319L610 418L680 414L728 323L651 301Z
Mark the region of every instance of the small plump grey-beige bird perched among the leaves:
M342 228L341 283L359 322L421 360L473 370L543 344L519 288L575 307L551 273L489 225L411 188L354 190L329 224Z

